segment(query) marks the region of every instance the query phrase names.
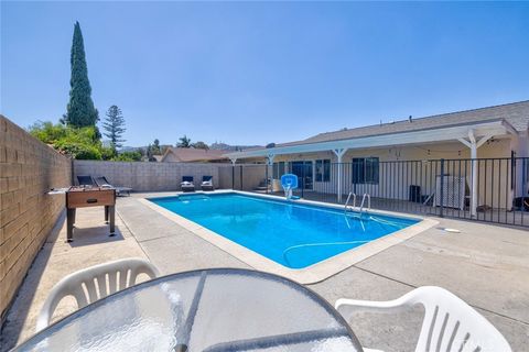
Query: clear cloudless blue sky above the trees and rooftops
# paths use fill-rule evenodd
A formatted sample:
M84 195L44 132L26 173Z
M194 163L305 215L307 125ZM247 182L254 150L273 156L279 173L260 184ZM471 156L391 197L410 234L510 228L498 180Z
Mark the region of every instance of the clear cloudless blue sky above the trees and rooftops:
M76 20L127 145L264 144L529 99L529 3L2 2L1 112L57 121Z

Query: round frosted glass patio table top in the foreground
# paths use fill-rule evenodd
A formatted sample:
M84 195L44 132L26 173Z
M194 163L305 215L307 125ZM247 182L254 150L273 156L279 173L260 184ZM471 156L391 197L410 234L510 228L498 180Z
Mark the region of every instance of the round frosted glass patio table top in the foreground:
M361 351L323 298L287 278L212 268L144 282L39 332L15 351Z

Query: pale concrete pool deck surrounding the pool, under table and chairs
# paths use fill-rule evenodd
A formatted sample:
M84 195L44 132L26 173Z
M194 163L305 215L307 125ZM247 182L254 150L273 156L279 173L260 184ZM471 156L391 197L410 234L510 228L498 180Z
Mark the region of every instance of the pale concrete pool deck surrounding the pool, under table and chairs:
M174 195L156 193L149 196ZM106 261L140 256L162 274L250 266L148 207L136 194L118 199L118 235L108 238L95 208L78 211L77 234L65 243L62 219L33 263L8 315L0 339L6 351L34 331L37 312L63 276ZM529 232L461 220L434 218L439 224L397 243L323 282L307 285L334 304L337 298L393 299L418 286L444 287L485 316L509 341L512 351L529 345ZM444 228L461 230L450 233ZM62 302L57 317L72 311ZM349 319L365 346L412 351L422 315L358 314Z

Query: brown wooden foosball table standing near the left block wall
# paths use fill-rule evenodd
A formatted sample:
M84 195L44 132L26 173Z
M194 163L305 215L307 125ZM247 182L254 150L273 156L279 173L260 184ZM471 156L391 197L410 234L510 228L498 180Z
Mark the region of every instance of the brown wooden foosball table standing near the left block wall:
M91 177L90 177L91 178ZM115 233L116 189L72 186L66 191L66 240L74 240L74 223L77 208L105 207L105 222L110 223L110 235Z

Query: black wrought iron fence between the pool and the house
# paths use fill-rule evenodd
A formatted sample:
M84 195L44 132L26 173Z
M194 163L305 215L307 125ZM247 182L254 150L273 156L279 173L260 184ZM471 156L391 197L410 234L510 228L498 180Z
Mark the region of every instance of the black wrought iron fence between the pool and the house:
M529 158L395 161L358 158L236 165L233 187L283 196L282 174L298 176L294 195L374 209L529 227ZM367 207L367 200L364 207Z

